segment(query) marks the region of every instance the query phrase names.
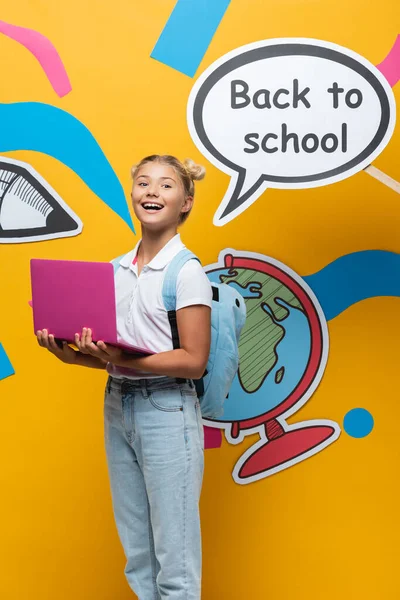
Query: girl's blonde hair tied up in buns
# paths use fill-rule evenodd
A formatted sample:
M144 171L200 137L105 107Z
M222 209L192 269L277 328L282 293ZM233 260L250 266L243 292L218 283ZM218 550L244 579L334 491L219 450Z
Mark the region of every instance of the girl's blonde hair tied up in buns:
M183 162L181 162L179 159L175 158L175 156L171 156L169 154L152 154L151 156L142 158L139 163L133 165L131 169L132 179L135 179L137 172L141 167L143 167L143 165L151 162L158 162L163 165L168 165L174 169L182 182L185 197L191 196L194 198L194 182L204 179L206 174L205 168L201 165L197 165L190 158L186 158ZM191 210L192 209L185 213L181 213L179 218L180 225L186 221Z

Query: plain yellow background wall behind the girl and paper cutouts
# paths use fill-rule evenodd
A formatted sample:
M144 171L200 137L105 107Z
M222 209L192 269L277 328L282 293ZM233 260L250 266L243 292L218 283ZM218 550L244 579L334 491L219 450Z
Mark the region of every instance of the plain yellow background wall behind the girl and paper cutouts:
M212 225L228 177L202 160L188 134L194 79L150 58L174 4L3 0L2 19L54 43L73 89L58 98L33 56L0 36L0 101L38 101L72 113L127 194L130 165L148 153L205 163L208 175L182 230L204 264L229 246L307 275L350 252L399 252L400 197L363 172L313 190L269 190L228 225ZM398 0L232 0L198 74L237 46L281 36L329 40L377 64L396 38L399 17ZM394 92L399 101L400 85ZM103 449L105 375L64 366L41 350L27 300L31 257L110 260L137 237L63 164L35 152L7 155L47 179L84 229L75 238L0 245L0 341L16 370L0 382L0 597L128 599ZM397 127L374 164L400 179L399 155ZM400 597L399 311L400 299L378 298L331 321L323 381L290 419L342 423L348 410L363 406L375 418L367 438L342 433L317 456L247 486L234 484L231 470L257 437L206 452L205 600Z

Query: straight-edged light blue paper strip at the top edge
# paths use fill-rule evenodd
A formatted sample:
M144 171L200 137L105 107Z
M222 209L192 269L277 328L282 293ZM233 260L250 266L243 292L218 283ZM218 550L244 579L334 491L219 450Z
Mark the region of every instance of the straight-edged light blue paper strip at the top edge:
M178 0L151 57L193 77L230 0Z

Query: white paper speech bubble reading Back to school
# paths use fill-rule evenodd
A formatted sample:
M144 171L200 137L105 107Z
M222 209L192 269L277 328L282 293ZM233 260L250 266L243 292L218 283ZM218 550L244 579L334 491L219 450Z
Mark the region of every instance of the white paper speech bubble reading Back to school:
M195 144L232 177L214 224L234 219L267 187L318 187L361 171L388 143L395 114L380 71L336 44L281 38L222 56L187 107Z

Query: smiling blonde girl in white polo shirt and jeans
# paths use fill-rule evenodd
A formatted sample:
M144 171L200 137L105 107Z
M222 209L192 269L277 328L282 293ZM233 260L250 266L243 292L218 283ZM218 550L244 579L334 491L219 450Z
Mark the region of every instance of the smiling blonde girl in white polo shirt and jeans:
M75 337L79 352L67 344L60 349L45 330L37 332L38 342L63 362L109 374L107 461L132 590L139 600L200 600L204 433L193 379L202 377L210 351L212 291L200 263L188 261L177 280L177 344L162 285L185 248L177 229L204 169L153 155L133 167L132 177L142 238L116 271L117 330L122 342L154 354L132 357L94 344L90 329Z

